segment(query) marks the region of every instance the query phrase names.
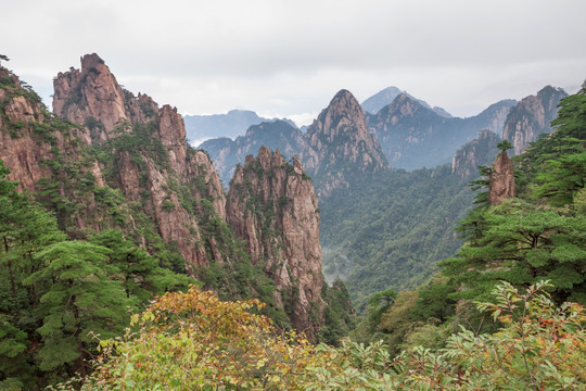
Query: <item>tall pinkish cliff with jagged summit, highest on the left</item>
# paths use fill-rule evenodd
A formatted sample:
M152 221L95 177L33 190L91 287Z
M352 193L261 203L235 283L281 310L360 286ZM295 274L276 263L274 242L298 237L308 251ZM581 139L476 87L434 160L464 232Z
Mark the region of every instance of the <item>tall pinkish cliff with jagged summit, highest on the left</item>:
M164 242L177 245L188 265L207 265L198 219L171 191L173 181L190 188L195 200L209 198L221 218L225 197L207 155L187 149L177 109L160 109L150 97L123 90L97 54L82 56L81 70L60 73L54 88L55 114L84 126L86 142L112 146L115 187L143 205Z

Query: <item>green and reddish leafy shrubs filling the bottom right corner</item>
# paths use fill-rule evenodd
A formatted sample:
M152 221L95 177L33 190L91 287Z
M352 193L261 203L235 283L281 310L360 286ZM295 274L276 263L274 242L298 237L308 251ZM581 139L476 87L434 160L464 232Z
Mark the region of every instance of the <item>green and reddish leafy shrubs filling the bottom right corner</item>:
M575 303L558 307L545 282L520 293L499 285L495 302L479 303L502 327L494 335L470 330L450 337L437 353L415 348L399 357L411 389L578 390L586 386L586 313Z

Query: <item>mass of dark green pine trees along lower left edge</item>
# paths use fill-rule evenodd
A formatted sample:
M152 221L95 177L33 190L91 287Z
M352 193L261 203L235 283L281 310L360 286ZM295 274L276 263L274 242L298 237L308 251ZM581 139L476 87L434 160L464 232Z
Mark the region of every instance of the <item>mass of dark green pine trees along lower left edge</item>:
M119 230L67 240L7 174L0 161L0 388L31 389L87 370L98 343L90 331L119 335L129 306L189 278L160 268Z

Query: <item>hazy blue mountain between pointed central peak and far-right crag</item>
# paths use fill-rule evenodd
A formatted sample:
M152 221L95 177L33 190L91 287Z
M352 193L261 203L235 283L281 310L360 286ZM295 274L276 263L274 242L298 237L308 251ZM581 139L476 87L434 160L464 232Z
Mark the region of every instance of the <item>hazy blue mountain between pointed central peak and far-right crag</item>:
M480 130L500 134L505 118L515 103L504 100L473 117L447 118L400 93L375 115L367 113L366 118L390 164L415 169L450 162L458 148L473 140Z

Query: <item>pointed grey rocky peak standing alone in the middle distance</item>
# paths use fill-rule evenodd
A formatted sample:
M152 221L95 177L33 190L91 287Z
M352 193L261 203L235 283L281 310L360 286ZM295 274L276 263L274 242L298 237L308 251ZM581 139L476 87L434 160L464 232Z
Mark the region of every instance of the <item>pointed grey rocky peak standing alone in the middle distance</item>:
M306 137L317 160L306 159L304 166L317 182L319 195L347 187L353 176L388 167L379 141L368 131L362 108L347 90L335 94Z

